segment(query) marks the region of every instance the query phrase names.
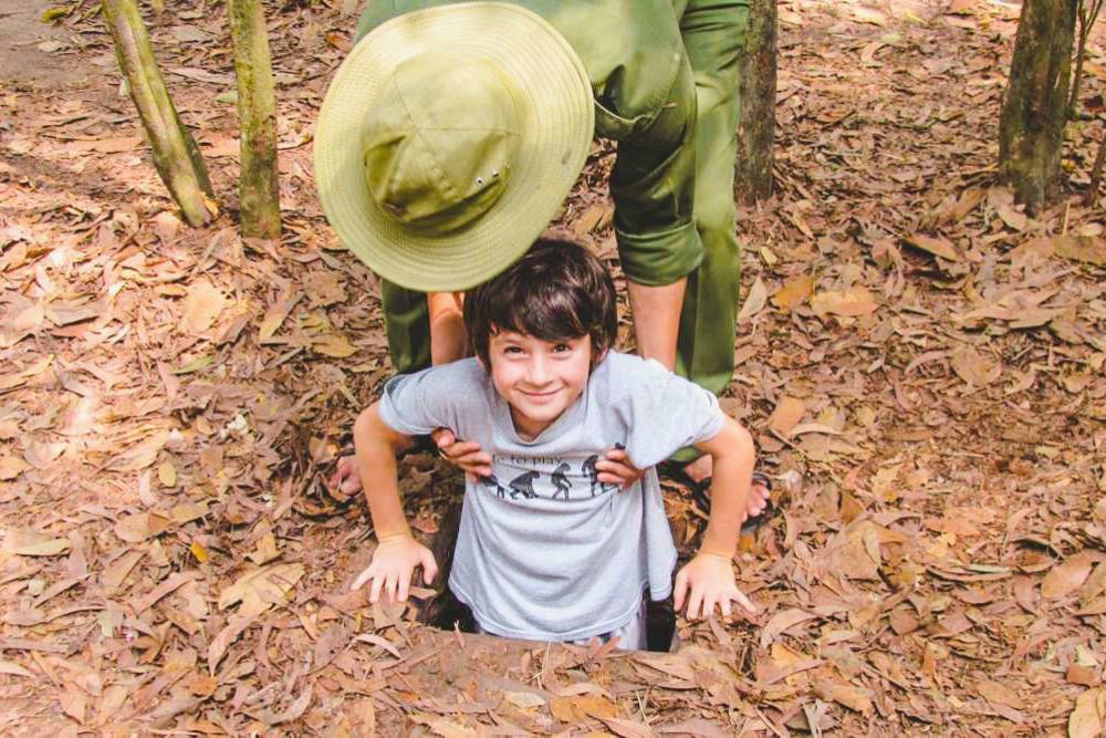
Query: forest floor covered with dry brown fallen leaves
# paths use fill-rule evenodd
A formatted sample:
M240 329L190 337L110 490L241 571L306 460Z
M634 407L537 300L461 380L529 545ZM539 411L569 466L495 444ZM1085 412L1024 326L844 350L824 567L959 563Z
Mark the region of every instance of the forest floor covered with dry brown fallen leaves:
M727 393L784 510L742 543L761 614L619 654L347 593L369 521L323 480L390 368L311 141L357 3L270 11L279 242L234 230L223 3L165 4L207 229L174 215L98 3L0 0L0 732L1100 735L1100 38L1064 198L1030 218L995 185L1016 7L781 2L779 187L741 214ZM611 164L597 144L561 222L617 274ZM403 487L429 538L460 480L409 457ZM668 491L686 554L703 517Z

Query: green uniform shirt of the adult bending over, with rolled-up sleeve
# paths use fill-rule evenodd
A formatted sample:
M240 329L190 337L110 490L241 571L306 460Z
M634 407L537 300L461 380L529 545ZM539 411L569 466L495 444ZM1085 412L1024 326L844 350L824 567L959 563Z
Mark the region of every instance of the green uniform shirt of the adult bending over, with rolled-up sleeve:
M455 0L456 1L456 0ZM371 2L359 40L380 23L450 0ZM668 284L702 259L692 219L696 90L670 0L524 0L576 51L595 95L595 132L618 142L611 177L623 270Z

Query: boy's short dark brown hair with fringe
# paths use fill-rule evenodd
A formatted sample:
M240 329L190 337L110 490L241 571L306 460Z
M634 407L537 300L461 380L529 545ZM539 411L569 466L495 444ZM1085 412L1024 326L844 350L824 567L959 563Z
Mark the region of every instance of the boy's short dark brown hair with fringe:
M615 285L584 247L540 238L505 271L465 295L465 326L488 367L488 344L501 331L542 341L589 335L594 361L615 342Z

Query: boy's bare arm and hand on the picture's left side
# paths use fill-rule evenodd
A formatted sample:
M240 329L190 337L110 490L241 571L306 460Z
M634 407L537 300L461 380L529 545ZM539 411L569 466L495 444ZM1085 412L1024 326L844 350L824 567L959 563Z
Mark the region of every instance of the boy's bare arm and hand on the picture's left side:
M429 584L438 574L438 565L430 549L411 536L399 499L396 454L411 439L380 419L378 405L371 405L353 426L357 474L365 489L378 544L373 562L349 589L356 590L371 581L369 602L379 600L382 591L390 602L406 602L415 568L422 567L422 581Z

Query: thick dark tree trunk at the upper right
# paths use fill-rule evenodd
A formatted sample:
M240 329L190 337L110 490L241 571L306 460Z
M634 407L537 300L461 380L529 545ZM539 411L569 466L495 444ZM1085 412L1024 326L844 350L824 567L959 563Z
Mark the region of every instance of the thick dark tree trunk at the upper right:
M1060 190L1078 0L1024 0L999 118L999 176L1036 215Z

